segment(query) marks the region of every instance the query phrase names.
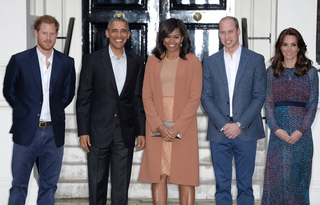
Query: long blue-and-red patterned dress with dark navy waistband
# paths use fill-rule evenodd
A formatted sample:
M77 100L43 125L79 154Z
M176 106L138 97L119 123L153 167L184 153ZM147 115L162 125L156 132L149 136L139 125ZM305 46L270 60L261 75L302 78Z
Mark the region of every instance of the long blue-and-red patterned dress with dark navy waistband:
M267 69L267 122L271 129L262 205L308 205L311 180L313 141L311 125L319 99L319 79L315 67L297 77L296 68L284 68L276 78L272 67ZM289 135L295 130L302 137L288 144L276 136L283 129Z

